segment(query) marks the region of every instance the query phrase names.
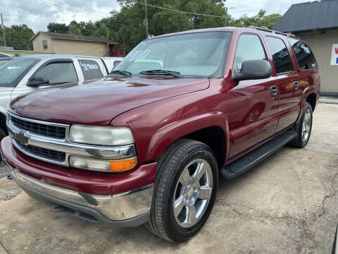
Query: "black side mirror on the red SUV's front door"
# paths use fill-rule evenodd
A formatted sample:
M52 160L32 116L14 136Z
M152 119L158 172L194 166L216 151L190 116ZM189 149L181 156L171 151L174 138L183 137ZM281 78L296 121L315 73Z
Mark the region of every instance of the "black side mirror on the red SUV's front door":
M232 79L254 80L261 78L270 78L273 73L271 65L266 60L249 60L242 63L242 71L236 71L232 75Z

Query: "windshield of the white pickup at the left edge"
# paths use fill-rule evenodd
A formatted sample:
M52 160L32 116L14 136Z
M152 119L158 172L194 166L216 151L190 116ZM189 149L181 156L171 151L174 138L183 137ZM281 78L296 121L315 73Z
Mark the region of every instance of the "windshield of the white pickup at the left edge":
M23 75L37 62L37 59L18 57L0 65L0 86L15 87Z

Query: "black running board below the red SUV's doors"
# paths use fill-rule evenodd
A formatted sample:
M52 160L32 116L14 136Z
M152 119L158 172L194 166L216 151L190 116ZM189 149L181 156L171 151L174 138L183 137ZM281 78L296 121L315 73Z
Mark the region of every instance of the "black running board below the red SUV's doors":
M285 131L276 138L268 141L268 143L257 147L255 150L249 152L243 157L236 159L234 162L226 165L220 170L221 176L227 180L234 179L236 176L243 174L245 171L248 171L253 166L261 162L263 159L272 155L274 152L279 150L280 147L289 143L296 137L296 135L297 133L292 129Z

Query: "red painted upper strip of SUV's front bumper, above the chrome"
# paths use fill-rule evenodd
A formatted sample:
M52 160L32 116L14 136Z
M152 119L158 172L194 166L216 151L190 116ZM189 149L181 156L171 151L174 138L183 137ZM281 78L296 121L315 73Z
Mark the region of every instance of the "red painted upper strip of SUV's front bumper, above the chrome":
M27 157L12 147L9 137L1 140L1 154L14 169L39 181L82 193L114 195L154 183L157 162L139 164L125 174L69 169Z

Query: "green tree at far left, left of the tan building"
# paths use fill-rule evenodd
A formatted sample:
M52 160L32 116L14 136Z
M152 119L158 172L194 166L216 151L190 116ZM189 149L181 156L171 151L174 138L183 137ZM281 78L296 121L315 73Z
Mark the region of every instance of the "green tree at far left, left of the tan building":
M30 50L33 49L33 44L30 39L34 36L32 29L28 28L27 25L12 25L10 28L5 28L6 32L6 45L8 47L14 47L17 50ZM2 30L0 32L0 44L4 45L2 37Z

